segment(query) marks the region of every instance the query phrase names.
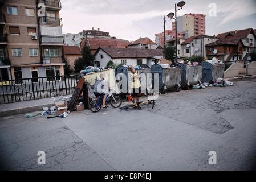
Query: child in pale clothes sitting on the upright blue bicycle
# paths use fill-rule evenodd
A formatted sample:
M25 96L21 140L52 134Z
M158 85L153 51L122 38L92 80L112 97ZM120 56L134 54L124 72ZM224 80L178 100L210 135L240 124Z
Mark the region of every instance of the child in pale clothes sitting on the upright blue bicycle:
M98 80L94 86L94 94L96 99L103 96L102 107L106 109L108 106L105 105L107 94L109 93L107 83L105 81L105 73L100 73L100 80Z

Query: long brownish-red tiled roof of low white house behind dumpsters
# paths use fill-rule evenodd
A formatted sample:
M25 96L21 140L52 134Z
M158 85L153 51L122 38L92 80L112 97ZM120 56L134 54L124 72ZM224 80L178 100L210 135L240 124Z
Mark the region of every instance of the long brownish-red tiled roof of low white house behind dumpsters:
M105 51L110 57L112 57L112 59L147 58L147 57L163 55L162 50L159 50L159 49L129 49L129 48L101 48L101 47L99 49L102 49L103 51ZM98 51L96 51L96 53L97 52Z

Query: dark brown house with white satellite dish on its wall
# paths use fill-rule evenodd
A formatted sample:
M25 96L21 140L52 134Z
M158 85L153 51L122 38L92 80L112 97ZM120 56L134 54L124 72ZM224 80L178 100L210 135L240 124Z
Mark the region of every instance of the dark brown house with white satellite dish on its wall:
M216 42L206 44L206 56L216 57L222 61L241 60L243 56L242 39L238 36L225 36Z

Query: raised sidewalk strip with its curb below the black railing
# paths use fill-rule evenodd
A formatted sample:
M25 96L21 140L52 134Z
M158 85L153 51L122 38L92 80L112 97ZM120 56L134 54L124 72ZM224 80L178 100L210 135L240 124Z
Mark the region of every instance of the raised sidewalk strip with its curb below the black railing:
M15 115L15 114L31 113L34 111L42 111L43 107L53 106L54 102L56 100L62 100L62 97L71 97L71 95L42 98L39 100L31 100L31 101L14 102L10 104L1 104L0 117L6 117L9 115Z

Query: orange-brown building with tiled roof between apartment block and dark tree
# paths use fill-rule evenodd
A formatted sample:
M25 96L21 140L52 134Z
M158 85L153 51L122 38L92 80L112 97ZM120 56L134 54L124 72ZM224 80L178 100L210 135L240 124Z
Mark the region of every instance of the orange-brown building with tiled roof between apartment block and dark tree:
M74 62L79 57L82 57L82 53L78 46L64 46L64 57L70 65L70 69L74 71Z

